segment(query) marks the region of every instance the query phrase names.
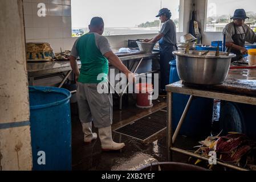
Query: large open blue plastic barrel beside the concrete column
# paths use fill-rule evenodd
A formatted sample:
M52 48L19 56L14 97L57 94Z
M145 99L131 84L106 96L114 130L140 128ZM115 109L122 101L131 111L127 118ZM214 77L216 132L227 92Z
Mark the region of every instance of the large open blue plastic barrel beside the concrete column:
M29 88L33 170L71 170L70 97L66 89Z

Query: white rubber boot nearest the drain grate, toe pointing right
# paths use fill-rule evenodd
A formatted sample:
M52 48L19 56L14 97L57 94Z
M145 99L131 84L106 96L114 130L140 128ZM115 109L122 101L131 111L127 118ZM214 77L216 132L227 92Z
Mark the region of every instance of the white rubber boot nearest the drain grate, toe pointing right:
M124 143L113 142L111 126L99 128L99 137L103 151L116 151L125 146Z

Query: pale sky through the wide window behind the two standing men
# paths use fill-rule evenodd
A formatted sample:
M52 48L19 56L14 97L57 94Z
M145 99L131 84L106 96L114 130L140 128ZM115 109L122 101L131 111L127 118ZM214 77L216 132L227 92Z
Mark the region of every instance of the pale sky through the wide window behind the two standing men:
M105 27L135 27L147 21L153 22L160 5L178 18L180 0L72 0L72 28L85 28L94 16L101 16Z

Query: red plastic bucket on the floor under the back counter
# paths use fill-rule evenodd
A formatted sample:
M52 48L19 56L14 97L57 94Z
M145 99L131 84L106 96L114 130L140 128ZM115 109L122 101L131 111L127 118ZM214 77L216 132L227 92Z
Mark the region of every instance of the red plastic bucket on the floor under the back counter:
M153 107L152 94L153 84L136 84L137 107L147 109Z

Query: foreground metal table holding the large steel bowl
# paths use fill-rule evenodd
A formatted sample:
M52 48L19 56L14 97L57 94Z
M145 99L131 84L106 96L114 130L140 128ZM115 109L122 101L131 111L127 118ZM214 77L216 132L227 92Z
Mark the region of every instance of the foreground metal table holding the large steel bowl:
M188 109L194 97L206 97L214 98L218 100L225 100L231 102L239 102L243 104L256 105L256 69L233 69L229 72L224 84L211 85L211 86L196 86L196 85L184 85L182 81L174 84L166 85L166 91L168 92L167 104L168 104L168 127L167 127L167 148L168 148L168 160L172 160L172 152L178 152L181 154L189 155L201 160L208 160L206 156L201 156L181 150L174 147L174 143L177 139L178 133L181 129L182 123L188 113ZM188 104L185 107L184 113L181 116L180 122L174 133L172 132L172 96L173 93L180 93L190 95ZM225 167L246 170L231 164L217 162Z

